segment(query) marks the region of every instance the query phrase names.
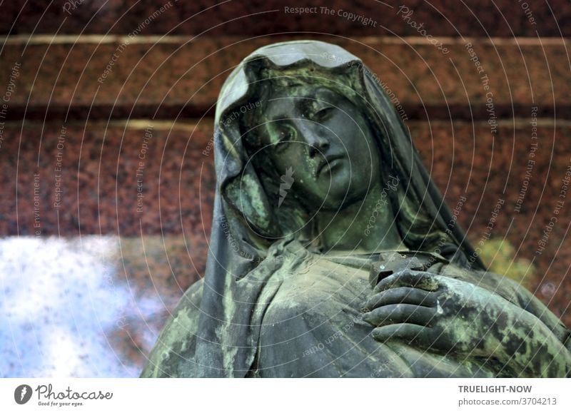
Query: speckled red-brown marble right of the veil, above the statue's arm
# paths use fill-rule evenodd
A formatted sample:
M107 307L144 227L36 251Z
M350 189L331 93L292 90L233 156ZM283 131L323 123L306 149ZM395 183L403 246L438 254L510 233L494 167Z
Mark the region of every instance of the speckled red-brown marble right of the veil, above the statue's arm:
M438 187L445 194L448 205L454 208L460 195L468 201L463 205L459 222L468 231L468 238L477 246L487 243L488 222L495 205L505 201L497 215L492 238L505 238L517 253L514 257L526 258L535 265L530 288L542 301L549 304L556 315L571 325L571 193L560 198L567 168L571 168L571 148L568 147L569 124L553 128L549 121L537 131L537 150L532 148L532 126L520 121L516 128L502 122L496 136L490 128L480 126L473 130L470 123L450 124L435 122L430 130L423 123L410 123L415 143ZM451 140L451 136L454 139ZM449 153L453 150L454 158ZM530 155L534 153L534 155ZM517 212L517 200L522 191L528 160L534 160L525 190L525 198ZM557 200L564 205L555 214ZM545 250L540 246L543 230L556 216Z

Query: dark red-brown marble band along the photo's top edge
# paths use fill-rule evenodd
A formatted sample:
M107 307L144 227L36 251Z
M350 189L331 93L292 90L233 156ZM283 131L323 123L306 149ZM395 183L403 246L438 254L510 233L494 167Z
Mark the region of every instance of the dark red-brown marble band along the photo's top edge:
M5 2L0 14L4 34L128 34L160 9L168 0L77 1L75 9L64 11L66 0L49 4L41 0ZM71 2L70 2L71 3ZM565 0L527 0L527 9L513 0L302 0L269 1L175 1L156 19L141 28L142 34L186 34L207 32L210 36L260 36L281 32L327 32L340 36L411 36L415 29L395 16L399 6L414 11L413 19L435 36L570 36L571 6ZM221 4L211 8L216 4ZM320 9L310 14L285 14L284 7L334 9L333 15ZM208 9L211 8L211 9ZM369 17L377 24L363 26L338 16L343 10ZM261 14L262 13L262 14ZM533 19L533 20L531 20ZM535 24L534 24L535 23Z

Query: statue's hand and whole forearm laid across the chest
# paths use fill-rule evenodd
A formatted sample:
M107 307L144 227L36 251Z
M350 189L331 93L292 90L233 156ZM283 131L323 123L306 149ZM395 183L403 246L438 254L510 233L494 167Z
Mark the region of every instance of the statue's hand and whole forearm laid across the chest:
M470 282L403 270L378 283L364 311L363 320L381 342L485 357L509 364L518 376L571 374L571 352L545 324Z

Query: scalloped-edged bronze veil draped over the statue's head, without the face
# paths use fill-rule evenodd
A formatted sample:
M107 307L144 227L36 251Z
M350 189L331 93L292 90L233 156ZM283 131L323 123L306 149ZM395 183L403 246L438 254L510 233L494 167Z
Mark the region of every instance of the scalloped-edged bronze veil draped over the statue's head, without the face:
M455 217L428 175L407 128L359 58L321 41L289 41L262 47L239 64L224 83L215 121L217 174L213 225L203 282L188 290L181 305L193 308L186 326L188 340L171 363L155 375L244 377L256 355L263 305L259 297L271 286L271 275L283 263L284 232L263 177L249 161L244 143L243 114L255 113L256 91L269 77L325 78L366 114L383 157L383 174L398 177L391 193L395 224L410 250L439 253L461 267L484 267L465 240ZM274 79L279 81L279 79ZM383 177L379 177L383 179ZM277 287L275 287L277 288ZM271 292L269 295L271 297ZM195 318L193 318L195 317ZM197 317L197 318L196 318ZM163 337L165 340L168 337ZM184 360L181 362L181 358Z

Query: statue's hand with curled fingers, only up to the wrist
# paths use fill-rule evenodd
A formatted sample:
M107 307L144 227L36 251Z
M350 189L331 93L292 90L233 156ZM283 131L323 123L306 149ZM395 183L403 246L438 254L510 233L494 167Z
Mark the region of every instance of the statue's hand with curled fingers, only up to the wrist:
M375 340L400 340L440 351L470 351L481 347L485 331L478 322L483 309L465 300L470 288L445 277L413 270L381 280L365 304L363 320L373 325ZM471 285L471 287L474 287ZM469 304L469 306L467 306ZM470 317L468 317L470 313ZM475 324L471 325L472 322ZM470 326L471 325L471 326ZM470 330L465 331L466 327ZM473 331L477 330L477 331ZM463 334L460 332L474 333Z

